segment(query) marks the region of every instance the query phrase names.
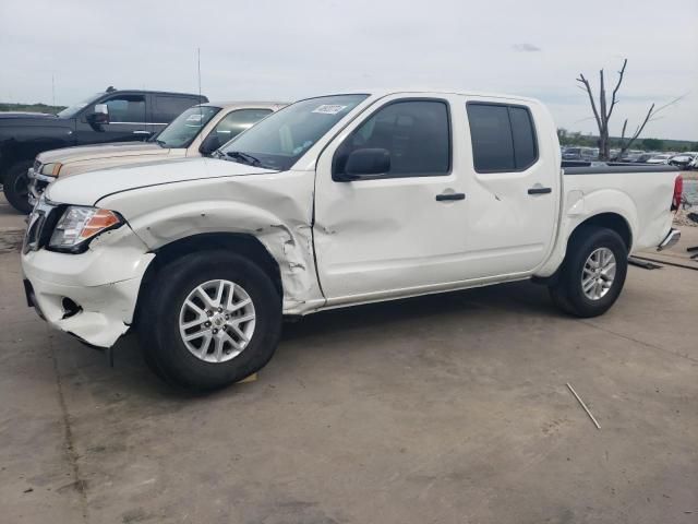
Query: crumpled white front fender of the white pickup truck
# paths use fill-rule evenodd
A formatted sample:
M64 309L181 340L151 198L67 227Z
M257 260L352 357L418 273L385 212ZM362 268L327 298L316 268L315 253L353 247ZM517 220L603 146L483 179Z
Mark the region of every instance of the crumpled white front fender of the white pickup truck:
M256 238L276 261L284 314L317 309L311 230L314 171L285 171L198 179L110 195L101 207L118 210L149 251L206 234Z

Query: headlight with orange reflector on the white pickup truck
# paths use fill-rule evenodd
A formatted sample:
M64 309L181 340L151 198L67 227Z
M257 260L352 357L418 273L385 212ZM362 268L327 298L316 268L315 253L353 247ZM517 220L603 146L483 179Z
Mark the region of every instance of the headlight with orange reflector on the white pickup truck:
M56 224L48 246L58 251L82 252L92 238L123 223L113 211L71 205Z

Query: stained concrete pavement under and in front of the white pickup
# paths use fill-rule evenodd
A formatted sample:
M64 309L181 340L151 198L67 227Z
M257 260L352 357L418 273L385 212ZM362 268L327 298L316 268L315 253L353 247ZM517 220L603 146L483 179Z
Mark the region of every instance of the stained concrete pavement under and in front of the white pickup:
M24 305L0 253L12 523L694 523L698 272L631 267L604 317L521 283L320 313L256 382L163 385ZM601 424L597 430L565 383Z

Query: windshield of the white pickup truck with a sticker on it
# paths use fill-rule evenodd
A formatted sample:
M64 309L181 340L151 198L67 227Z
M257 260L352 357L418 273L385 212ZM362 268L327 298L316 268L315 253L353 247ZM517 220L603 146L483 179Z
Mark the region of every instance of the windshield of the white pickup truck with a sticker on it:
M221 150L221 158L286 170L369 95L335 95L297 102L269 115Z

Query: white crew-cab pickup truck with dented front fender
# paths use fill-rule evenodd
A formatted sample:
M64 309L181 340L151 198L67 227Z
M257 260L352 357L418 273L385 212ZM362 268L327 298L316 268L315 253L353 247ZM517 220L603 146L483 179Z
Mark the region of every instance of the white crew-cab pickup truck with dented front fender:
M213 389L269 360L284 317L328 308L534 278L601 314L629 252L678 239L679 187L669 166L561 168L532 99L341 94L214 158L59 179L22 266L52 326L99 347L133 327L157 374Z

